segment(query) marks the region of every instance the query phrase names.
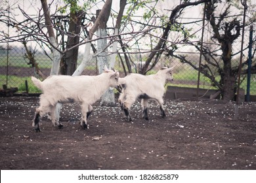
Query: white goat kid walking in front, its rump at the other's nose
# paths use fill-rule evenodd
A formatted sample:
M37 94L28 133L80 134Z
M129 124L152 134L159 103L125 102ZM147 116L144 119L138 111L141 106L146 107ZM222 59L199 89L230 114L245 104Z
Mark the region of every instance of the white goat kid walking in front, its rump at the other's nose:
M163 67L155 75L130 74L124 78L119 78L119 86L122 92L119 95L121 109L125 113L128 122L131 121L130 109L136 99L141 99L142 118L148 120L148 100L155 99L160 105L161 116L165 117L163 109L163 95L165 92L165 82L172 81L171 71L173 67Z

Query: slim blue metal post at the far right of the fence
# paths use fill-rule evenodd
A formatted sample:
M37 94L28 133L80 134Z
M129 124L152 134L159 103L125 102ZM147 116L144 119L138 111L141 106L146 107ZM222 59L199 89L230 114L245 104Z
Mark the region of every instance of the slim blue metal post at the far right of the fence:
M247 69L247 91L245 101L250 101L250 84L251 84L251 50L253 48L253 25L250 26L249 51L248 51L248 69Z

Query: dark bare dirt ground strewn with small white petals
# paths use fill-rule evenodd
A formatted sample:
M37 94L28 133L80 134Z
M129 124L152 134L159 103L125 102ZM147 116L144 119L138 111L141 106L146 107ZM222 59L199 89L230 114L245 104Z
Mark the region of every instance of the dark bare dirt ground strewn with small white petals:
M166 118L154 101L149 121L139 102L132 122L119 106L94 105L89 129L79 126L79 105L65 104L53 127L32 120L38 97L0 98L0 169L256 169L256 103L165 99Z

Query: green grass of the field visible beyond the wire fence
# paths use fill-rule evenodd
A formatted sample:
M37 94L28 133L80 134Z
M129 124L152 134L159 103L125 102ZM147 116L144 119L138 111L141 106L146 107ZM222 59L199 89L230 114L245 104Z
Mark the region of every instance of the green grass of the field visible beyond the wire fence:
M6 66L6 58L1 57L0 55L0 67ZM41 68L51 68L51 60L49 58L46 58L45 56L38 56L36 58L37 62L39 63L39 67ZM30 67L26 63L28 61L27 59L22 58L21 56L10 56L9 57L9 65L10 66L16 66L16 67ZM79 60L81 62L81 59ZM79 63L77 63L79 64ZM89 65L86 67L86 69L89 70L95 70L95 65ZM123 71L122 67L119 67L118 64L116 64L115 69L118 71ZM157 72L152 70L148 72L148 75L155 74ZM179 86L179 87L188 87L188 88L197 88L197 81L198 81L198 71L195 71L193 69L188 68L177 68L173 71L173 77L174 80L178 80L181 82L181 84L169 84L170 86ZM217 76L217 80L219 79L219 76ZM8 82L8 88L11 87L18 87L18 93L26 92L26 86L25 86L25 80L28 80L28 88L29 93L41 93L39 89L37 89L35 86L33 86L33 83L31 81L30 77L18 77L18 76L9 76L9 82ZM251 95L256 95L256 75L251 76ZM0 85L5 84L6 82L6 76L0 75ZM182 83L184 82L184 83ZM200 88L204 89L217 89L211 86L211 82L209 78L200 75ZM241 84L241 88L245 90L247 88L247 81L244 80Z

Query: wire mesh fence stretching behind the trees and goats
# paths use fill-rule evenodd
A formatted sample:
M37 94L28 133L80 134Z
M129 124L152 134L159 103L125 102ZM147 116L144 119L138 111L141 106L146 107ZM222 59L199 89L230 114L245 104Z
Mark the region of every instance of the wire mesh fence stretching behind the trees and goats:
M202 35L202 26L198 24L192 25L194 29L198 29L196 33L196 38L198 42L201 40ZM205 44L210 44L211 40L211 29L209 27L205 27L205 34L203 37L203 40ZM247 48L247 45L249 44L249 30L245 29L245 48ZM34 42L30 42L30 47L33 47L33 50L36 50L35 52L35 60L37 61L39 68L41 69L42 73L45 76L50 75L51 71L51 59L40 50L40 47L38 48L35 46L36 44ZM216 44L211 44L211 49L217 49ZM5 49L4 49L5 48ZM233 51L232 52L238 52L240 50L240 40L238 39L234 45L232 45ZM248 49L244 50L245 56L247 56ZM33 87L31 76L37 76L35 72L35 67L32 67L32 65L29 63L30 61L26 58L26 49L24 48L24 45L20 42L10 42L6 44L0 44L0 84L3 88L18 88L17 93L37 93L40 92L36 88ZM198 63L200 58L200 52L198 50L194 49L194 46L179 46L179 49L176 50L176 54L180 54L182 56L186 56L187 59L194 61L194 63ZM48 53L48 55L51 55L51 52ZM133 72L136 72L141 64L143 64L143 61L145 60L147 55L141 56L140 54L131 54L130 55L131 65L133 67ZM77 65L81 63L83 59L83 48L79 48L79 55L77 60ZM220 58L221 59L221 58ZM202 59L202 62L204 60ZM193 69L190 65L186 63L182 63L177 58L171 58L167 57L164 54L161 56L160 61L158 61L158 64L150 73L154 73L160 69L160 67L163 67L163 65L175 65L175 71L174 71L174 78L175 80L171 85L173 86L181 86L181 87L188 87L188 88L196 88L197 82L198 82L198 71ZM232 58L232 64L238 65L239 64L239 55L234 56ZM247 66L244 66L244 69ZM122 66L121 66L121 60L119 57L116 58L116 66L115 69L122 72ZM217 71L215 71L217 73ZM97 75L98 69L96 64L96 59L93 59L88 67L85 68L82 75ZM124 76L123 73L121 76ZM256 95L256 76L251 75L251 85L250 85L250 94ZM1 87L0 87L1 88ZM201 74L200 76L200 88L205 89L215 89L213 86L211 86L211 83L209 82L209 79L206 78ZM242 76L242 84L241 88L243 88L245 91L247 89L247 75Z

